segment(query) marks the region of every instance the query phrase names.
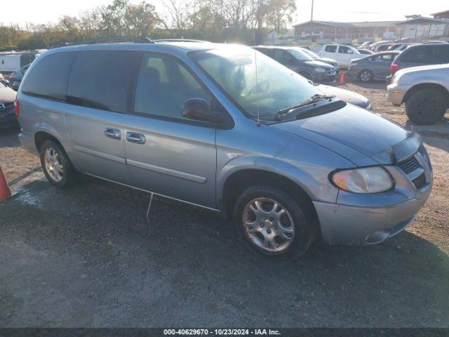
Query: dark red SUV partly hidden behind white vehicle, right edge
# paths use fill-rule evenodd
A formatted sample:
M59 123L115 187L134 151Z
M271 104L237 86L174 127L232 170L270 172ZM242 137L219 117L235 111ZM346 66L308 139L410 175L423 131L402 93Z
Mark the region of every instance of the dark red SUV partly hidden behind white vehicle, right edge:
M400 69L417 67L419 65L442 65L449 63L449 44L420 44L410 46L398 55L391 64L387 83L390 83L392 75Z

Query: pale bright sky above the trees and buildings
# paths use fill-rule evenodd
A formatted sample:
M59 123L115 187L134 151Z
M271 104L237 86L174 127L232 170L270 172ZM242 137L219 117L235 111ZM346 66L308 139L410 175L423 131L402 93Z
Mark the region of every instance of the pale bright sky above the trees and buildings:
M131 3L140 1L130 0ZM147 2L163 13L162 0ZM110 3L112 0L0 0L0 22L21 26L25 22L56 22L62 15L79 15L89 8ZM404 15L430 16L448 9L447 0L314 0L314 19L341 22L405 20ZM292 24L310 20L310 10L311 0L297 0L297 13Z

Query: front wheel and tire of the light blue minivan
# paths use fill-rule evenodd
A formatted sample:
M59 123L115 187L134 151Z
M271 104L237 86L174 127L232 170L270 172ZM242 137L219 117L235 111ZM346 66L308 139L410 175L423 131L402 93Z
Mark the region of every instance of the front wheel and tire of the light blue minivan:
M314 241L314 220L307 205L278 187L257 185L236 201L234 220L243 241L272 258L302 256Z

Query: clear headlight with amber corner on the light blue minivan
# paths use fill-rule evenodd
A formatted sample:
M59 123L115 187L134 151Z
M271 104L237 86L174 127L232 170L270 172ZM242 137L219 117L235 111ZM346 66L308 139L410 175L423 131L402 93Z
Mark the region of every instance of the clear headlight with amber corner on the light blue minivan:
M354 193L379 193L394 187L391 176L380 166L337 171L331 180L342 190Z

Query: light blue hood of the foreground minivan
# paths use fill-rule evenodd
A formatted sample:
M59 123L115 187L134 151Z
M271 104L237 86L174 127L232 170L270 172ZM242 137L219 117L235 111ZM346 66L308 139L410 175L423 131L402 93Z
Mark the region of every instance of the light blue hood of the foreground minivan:
M422 143L417 133L354 105L273 126L326 147L356 166L394 164L415 154Z

